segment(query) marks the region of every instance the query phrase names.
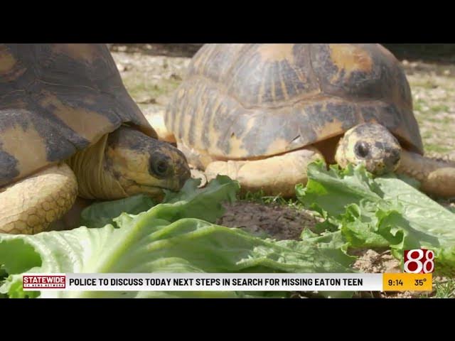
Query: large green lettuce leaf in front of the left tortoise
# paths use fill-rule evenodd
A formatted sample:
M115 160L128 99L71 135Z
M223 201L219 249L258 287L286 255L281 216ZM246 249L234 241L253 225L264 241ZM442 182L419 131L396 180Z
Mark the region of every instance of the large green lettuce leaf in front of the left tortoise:
M207 188L190 181L181 193L138 215L122 213L101 228L35 235L0 234L0 264L9 274L0 293L21 297L284 297L288 293L23 291L21 275L34 273L352 272L337 234L299 241L254 237L213 224L222 202L235 200L238 184L219 176ZM105 203L113 215L127 200ZM140 207L141 204L139 204ZM93 218L95 217L95 218ZM198 218L198 219L197 219ZM86 215L90 224L102 216ZM110 218L109 218L110 219ZM202 220L204 219L204 220ZM212 222L210 222L212 221ZM115 226L114 226L115 225ZM349 293L343 293L349 295Z

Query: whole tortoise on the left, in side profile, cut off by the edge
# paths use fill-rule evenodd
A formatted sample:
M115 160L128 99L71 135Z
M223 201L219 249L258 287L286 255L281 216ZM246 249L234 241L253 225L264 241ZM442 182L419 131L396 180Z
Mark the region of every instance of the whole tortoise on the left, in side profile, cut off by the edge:
M77 195L161 199L190 177L102 44L0 45L0 232L50 229Z

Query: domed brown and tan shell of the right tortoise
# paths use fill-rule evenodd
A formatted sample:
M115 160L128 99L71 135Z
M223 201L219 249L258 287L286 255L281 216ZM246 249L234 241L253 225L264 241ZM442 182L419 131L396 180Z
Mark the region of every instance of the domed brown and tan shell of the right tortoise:
M302 148L377 121L423 152L410 85L378 44L207 44L165 122L177 141L218 158Z

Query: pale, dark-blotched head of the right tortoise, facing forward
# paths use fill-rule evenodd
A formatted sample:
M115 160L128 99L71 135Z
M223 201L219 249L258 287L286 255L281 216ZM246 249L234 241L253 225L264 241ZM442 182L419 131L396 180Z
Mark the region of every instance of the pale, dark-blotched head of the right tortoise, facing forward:
M335 156L341 167L363 163L375 175L395 171L400 157L401 146L395 136L385 126L375 123L359 124L346 131Z

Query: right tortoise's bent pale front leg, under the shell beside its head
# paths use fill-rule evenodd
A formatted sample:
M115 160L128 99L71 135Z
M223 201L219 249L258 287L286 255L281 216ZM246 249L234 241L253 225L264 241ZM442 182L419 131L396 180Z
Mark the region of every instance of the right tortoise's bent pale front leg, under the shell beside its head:
M304 148L252 161L213 161L205 168L207 180L228 175L240 183L242 192L263 190L265 195L295 195L295 185L306 184L306 168L316 159L324 160L316 148Z

